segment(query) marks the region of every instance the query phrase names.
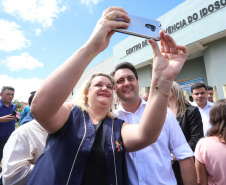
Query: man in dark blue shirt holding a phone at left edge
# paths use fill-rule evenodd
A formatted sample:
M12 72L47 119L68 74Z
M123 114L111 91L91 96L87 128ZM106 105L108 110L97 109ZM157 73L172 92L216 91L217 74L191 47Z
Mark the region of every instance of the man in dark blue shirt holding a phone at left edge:
M0 93L0 161L2 160L3 148L15 130L16 114L12 115L17 109L16 105L12 103L14 93L15 89L11 86L3 86ZM0 171L2 171L1 168Z

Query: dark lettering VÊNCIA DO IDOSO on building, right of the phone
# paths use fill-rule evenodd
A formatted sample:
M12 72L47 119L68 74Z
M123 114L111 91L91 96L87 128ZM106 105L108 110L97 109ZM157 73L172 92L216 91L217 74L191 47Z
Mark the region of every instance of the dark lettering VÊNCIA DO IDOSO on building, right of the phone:
M198 12L194 12L192 15L189 15L187 18L182 19L181 21L173 24L172 26L168 26L166 28L166 33L171 34L175 31L178 31L179 29L188 26L195 21L198 21L205 16L210 15L211 13L214 13L221 8L224 8L225 6L226 0L215 1L213 4L209 4L208 6L203 7Z

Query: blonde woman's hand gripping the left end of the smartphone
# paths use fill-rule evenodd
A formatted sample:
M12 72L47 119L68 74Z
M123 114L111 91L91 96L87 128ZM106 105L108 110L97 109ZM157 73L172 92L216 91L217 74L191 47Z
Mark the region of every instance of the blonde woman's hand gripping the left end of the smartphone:
M124 21L116 21L116 18L122 18ZM128 28L129 21L127 12L121 7L110 7L104 10L86 46L90 47L95 54L99 54L107 48L110 38L114 34L112 29Z

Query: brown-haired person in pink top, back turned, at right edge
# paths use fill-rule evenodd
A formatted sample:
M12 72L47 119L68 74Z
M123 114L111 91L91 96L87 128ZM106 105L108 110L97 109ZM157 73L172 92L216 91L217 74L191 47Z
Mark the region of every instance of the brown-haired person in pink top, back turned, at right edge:
M195 167L198 184L226 182L226 100L219 100L210 110L212 127L207 137L195 148Z

